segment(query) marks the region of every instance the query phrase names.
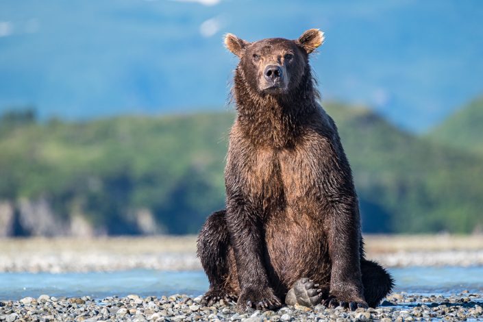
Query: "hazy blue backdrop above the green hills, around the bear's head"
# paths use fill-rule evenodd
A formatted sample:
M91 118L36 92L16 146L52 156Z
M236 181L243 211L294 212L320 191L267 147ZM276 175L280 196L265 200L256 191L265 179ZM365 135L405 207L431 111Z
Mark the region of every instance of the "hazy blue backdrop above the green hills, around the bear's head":
M295 39L318 27L326 41L312 65L325 100L423 131L483 90L481 21L478 0L0 1L0 111L222 110L236 64L225 32Z

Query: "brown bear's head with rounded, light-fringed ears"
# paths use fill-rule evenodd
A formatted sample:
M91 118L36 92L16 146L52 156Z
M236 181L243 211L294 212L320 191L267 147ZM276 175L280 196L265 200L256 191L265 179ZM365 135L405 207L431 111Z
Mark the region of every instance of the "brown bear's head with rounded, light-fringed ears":
M284 95L297 88L308 72L308 55L322 45L323 32L309 29L297 40L267 38L247 42L226 34L225 46L240 58L236 73L260 95Z

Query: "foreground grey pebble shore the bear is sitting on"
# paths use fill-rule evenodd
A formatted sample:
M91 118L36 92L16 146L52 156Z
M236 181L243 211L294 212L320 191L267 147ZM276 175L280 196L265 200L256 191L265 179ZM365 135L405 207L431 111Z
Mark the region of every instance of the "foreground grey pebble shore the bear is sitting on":
M40 295L0 301L0 321L479 321L483 294L414 295L393 293L378 308L286 306L277 311L239 312L233 302L201 306L201 297L55 298Z

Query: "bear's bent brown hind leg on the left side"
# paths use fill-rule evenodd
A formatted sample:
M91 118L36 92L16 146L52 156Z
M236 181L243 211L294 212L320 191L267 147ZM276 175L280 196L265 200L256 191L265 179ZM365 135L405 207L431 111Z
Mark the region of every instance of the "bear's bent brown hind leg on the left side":
M210 289L201 300L203 305L210 306L221 299L237 299L232 286L232 280L236 278L230 273L233 264L230 263L230 236L225 214L225 210L213 212L206 219L197 240L197 256L210 281Z

